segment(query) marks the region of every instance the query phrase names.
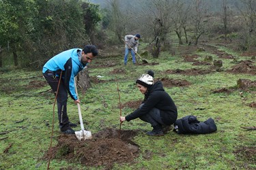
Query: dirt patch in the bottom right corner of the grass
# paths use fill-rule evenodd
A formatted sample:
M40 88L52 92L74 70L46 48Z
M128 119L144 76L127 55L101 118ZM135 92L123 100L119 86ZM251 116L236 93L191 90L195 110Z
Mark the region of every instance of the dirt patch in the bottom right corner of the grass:
M237 158L240 158L242 160L246 160L248 163L256 163L256 147L245 147L242 146L241 148L238 148L234 151Z

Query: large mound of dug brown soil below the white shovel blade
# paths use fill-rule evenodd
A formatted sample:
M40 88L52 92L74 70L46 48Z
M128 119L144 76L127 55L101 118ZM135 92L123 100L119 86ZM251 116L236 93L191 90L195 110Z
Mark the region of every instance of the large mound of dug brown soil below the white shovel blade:
M136 131L104 129L93 135L92 139L79 141L76 135L60 135L57 146L44 155L45 159L67 160L69 163L112 169L114 163L132 163L139 155L139 146L131 141Z

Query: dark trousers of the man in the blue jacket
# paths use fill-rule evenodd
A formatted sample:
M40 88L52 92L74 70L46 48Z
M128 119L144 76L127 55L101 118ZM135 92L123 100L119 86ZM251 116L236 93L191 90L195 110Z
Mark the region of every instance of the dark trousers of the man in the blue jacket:
M59 84L59 77L55 76L55 73L52 71L46 71L44 73L44 78L48 82L48 84L53 89L54 94L56 95L57 87ZM67 101L68 101L68 92L66 87L63 84L63 80L61 80L59 84L59 91L57 94L57 108L58 108L58 118L59 118L59 128L61 131L66 131L70 129L69 119L67 114Z

